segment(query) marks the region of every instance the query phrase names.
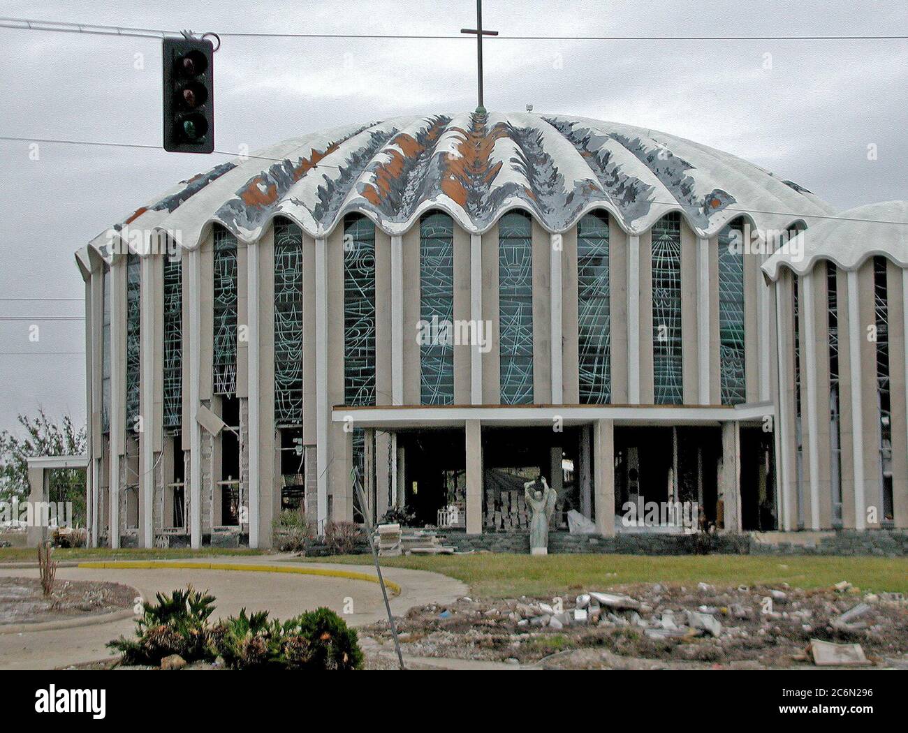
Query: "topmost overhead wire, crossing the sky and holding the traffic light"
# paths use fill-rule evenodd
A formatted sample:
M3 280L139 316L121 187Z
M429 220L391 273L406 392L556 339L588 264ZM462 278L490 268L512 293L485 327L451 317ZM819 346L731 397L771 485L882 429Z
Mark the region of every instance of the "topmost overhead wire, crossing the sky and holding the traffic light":
M89 35L138 36L140 38L163 38L179 36L181 31L161 28L136 28L119 25L98 25L82 23L61 23L35 20L32 18L0 17L0 27L22 31L44 31L49 33L78 33ZM222 38L320 38L350 40L400 40L400 41L473 41L462 34L314 34L281 33L271 31L217 31ZM498 35L498 41L901 41L908 39L904 34L805 34L805 35Z

